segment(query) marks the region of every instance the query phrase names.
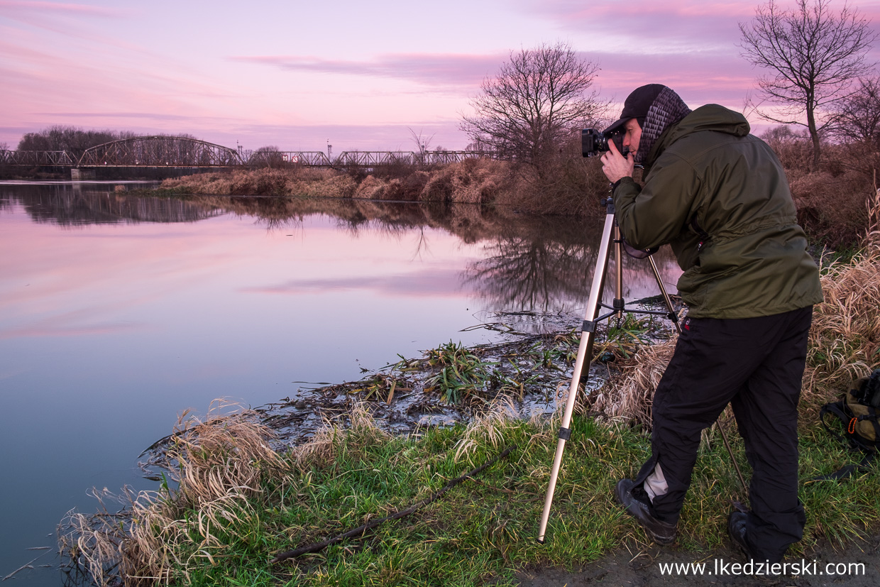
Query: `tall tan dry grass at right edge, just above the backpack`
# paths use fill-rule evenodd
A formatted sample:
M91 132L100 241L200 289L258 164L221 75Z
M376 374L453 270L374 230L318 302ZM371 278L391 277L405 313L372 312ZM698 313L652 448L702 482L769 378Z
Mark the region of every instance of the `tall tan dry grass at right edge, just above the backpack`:
M870 245L851 263L828 268L822 292L803 377L804 397L813 407L880 365L880 247Z

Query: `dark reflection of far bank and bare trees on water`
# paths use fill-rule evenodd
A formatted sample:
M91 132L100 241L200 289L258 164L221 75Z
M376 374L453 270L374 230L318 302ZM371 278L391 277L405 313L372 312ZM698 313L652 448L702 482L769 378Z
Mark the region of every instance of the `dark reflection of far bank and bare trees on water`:
M600 220L564 216L522 216L510 211L466 204L414 204L357 200L282 199L242 196L195 196L188 200L137 197L119 182L53 184L0 183L0 209L19 202L35 222L60 225L198 222L222 214L253 217L269 231L289 230L314 215L330 216L356 237L371 231L400 238L415 234L414 258L429 250L427 229L440 229L463 243L479 244L483 254L460 274L460 287L472 290L498 311L547 312L583 304L589 293L600 238ZM664 287L675 292L680 270L664 247L655 255ZM624 256L624 297L638 299L659 293L647 261ZM615 264L609 267L609 281ZM387 281L374 276L370 282ZM428 282L429 280L425 280ZM411 290L418 289L418 283ZM289 282L277 290L332 289L319 277ZM612 299L610 285L605 301Z

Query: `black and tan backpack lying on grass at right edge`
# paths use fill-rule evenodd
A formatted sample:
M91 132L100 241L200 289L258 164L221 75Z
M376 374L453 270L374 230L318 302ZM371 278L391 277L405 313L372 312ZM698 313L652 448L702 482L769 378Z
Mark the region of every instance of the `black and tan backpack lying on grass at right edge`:
M819 412L819 420L832 436L849 444L854 451L863 453L858 465L847 465L830 475L822 475L814 481L845 479L853 473L863 473L880 451L880 369L869 377L856 379L840 401L825 404ZM835 432L825 418L834 415L843 425L843 435ZM833 420L833 418L832 418Z

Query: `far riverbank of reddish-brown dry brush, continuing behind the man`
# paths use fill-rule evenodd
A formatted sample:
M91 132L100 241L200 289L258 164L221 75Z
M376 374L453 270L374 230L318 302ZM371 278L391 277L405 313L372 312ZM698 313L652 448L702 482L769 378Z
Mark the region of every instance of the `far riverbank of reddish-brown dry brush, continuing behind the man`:
M848 165L847 150L833 148L813 168L805 164L803 144L769 139L788 176L797 221L814 245L834 249L859 246L876 207L873 168ZM636 172L639 180L641 172ZM872 188L871 186L874 185ZM527 165L488 158L449 165L395 165L362 169L238 169L165 180L143 194L268 195L281 198L353 198L367 202L476 204L535 215L601 216L599 199L608 182L598 158L568 153L539 175Z

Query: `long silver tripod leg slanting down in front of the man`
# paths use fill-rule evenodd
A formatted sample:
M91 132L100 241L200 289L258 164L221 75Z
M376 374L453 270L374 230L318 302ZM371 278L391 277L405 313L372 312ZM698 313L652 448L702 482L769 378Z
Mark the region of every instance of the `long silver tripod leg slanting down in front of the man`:
M613 211L613 210L612 210ZM562 415L562 424L559 430L559 443L556 444L556 455L553 460L553 469L550 471L550 486L547 488L544 500L544 513L541 515L541 526L538 533L538 541L544 543L544 535L547 529L547 520L550 518L550 507L553 505L553 494L556 490L556 478L559 477L559 468L562 463L562 451L565 450L565 441L571 435L571 415L575 411L577 400L577 387L581 383L581 371L587 363L587 373L590 371L590 357L593 354L593 340L596 337L596 319L598 318L599 305L602 303L602 290L605 286L605 272L608 270L608 256L611 252L612 231L614 230L614 214L605 215L605 226L602 229L602 239L599 244L599 254L596 260L596 271L593 274L593 284L590 288L590 299L583 318L583 330L581 343L577 347L575 371L571 376L571 385L568 386L568 399L565 402L565 412ZM583 378L584 381L586 378Z

